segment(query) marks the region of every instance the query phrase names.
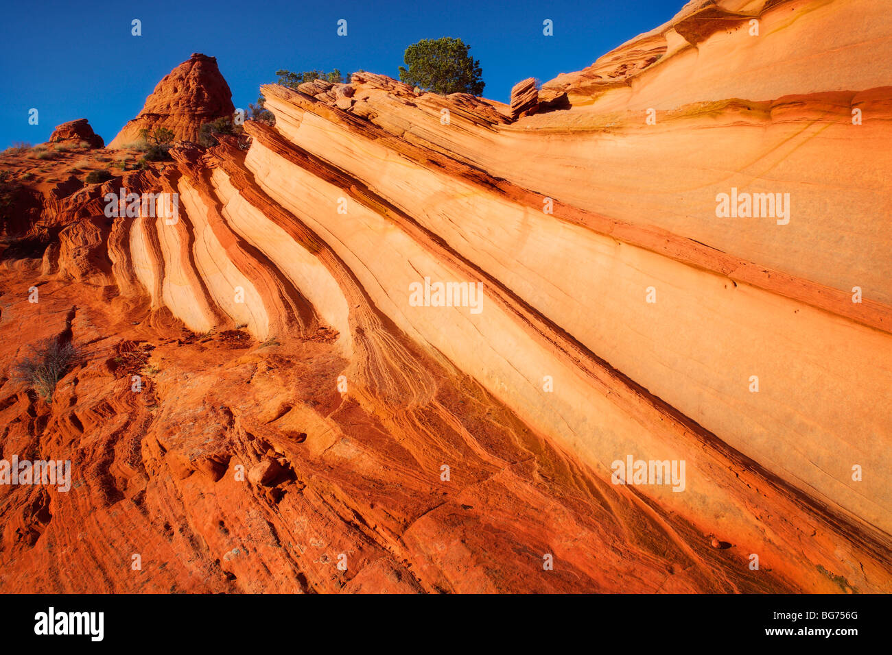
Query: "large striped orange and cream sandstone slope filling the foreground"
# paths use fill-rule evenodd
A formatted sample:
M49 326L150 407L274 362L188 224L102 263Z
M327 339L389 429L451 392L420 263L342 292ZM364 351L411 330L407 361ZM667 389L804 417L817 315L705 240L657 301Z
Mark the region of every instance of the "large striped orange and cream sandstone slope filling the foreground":
M3 455L72 488L0 487L0 586L892 591L889 15L690 18L734 4L533 115L357 73L264 86L246 150L31 184ZM821 38L853 12L880 36ZM122 187L176 220L107 217ZM789 221L721 215L756 192ZM52 405L7 373L47 337L79 352Z

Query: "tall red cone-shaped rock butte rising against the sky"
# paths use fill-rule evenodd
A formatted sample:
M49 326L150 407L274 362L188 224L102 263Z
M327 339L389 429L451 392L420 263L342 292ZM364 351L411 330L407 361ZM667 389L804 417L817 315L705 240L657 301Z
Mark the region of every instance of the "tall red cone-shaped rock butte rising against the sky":
M173 131L177 141L198 141L202 123L235 111L232 92L220 75L216 57L193 53L161 79L145 99L143 111L125 125L109 148L122 148L140 139L140 131L158 127Z

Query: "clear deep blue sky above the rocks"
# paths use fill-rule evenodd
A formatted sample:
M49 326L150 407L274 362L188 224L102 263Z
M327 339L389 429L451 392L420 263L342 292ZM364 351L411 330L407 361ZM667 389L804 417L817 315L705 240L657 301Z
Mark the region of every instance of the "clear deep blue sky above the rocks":
M672 18L685 0L410 0L399 2L5 2L0 21L0 149L42 143L89 119L106 143L191 53L217 57L235 107L278 69L370 70L399 77L407 45L460 37L483 68L485 97L507 102L523 78L580 70ZM347 20L347 37L336 23ZM142 36L130 21L142 20ZM554 36L542 35L542 21ZM28 123L29 109L39 124Z

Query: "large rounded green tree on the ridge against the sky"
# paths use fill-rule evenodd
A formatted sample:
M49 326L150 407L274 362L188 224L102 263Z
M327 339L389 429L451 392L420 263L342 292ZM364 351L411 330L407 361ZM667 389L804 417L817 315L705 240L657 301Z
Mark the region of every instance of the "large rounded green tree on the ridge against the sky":
M408 69L400 67L400 81L435 94L483 93L483 70L460 38L423 38L403 55Z

